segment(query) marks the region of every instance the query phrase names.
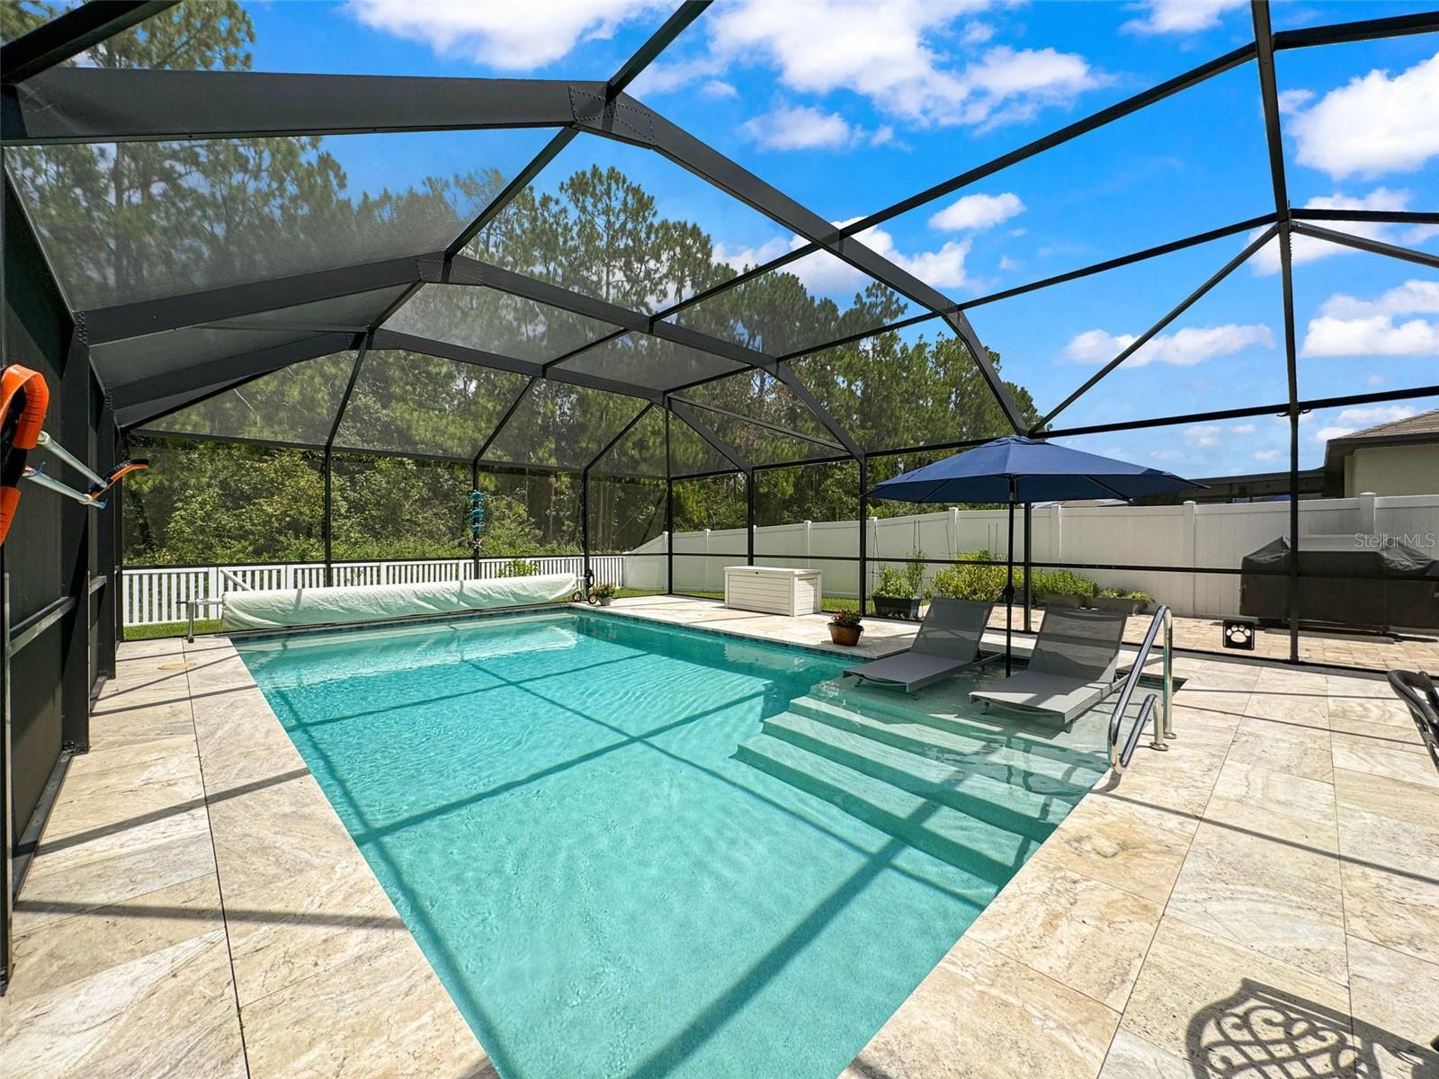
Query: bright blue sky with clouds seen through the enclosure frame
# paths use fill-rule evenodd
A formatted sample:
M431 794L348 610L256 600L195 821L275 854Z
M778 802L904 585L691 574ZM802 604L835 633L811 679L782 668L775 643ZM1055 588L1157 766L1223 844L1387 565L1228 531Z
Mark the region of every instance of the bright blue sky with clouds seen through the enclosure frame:
M1423 3L1274 6L1276 29L1425 10ZM259 70L606 78L668 16L643 0L419 0L253 4ZM848 222L1120 101L1252 36L1239 0L989 3L728 0L633 88L784 193ZM1439 35L1281 53L1294 206L1439 210ZM328 140L351 187L426 173L519 167L544 132ZM581 138L541 186L617 164L665 213L696 220L735 265L794 237L655 154ZM955 299L986 295L1274 209L1253 65L1012 167L865 239ZM1439 229L1347 226L1423 250ZM1233 236L971 311L1042 410L1248 242ZM1439 273L1317 242L1295 250L1304 397L1439 383ZM1286 394L1274 247L1238 269L1061 426L1279 401ZM846 296L848 268L802 266L812 291ZM918 331L915 331L918 332ZM932 332L932 331L931 331ZM1305 417L1302 463L1324 442L1439 400ZM1089 436L1082 445L1189 475L1281 469L1286 424Z

